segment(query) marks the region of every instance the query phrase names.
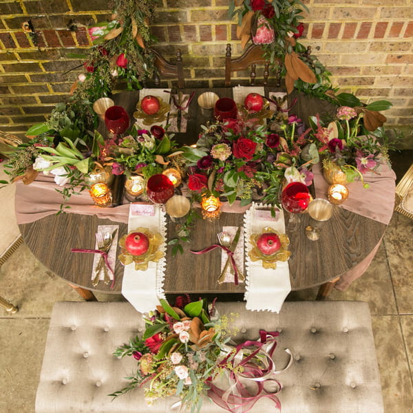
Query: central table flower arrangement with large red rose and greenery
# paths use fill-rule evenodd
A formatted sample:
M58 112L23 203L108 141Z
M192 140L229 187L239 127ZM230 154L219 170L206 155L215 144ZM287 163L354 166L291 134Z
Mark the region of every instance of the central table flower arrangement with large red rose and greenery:
M253 199L278 204L284 179L310 185L309 167L319 160L317 147L306 138L310 129L297 116L268 125L240 117L204 126L196 148L182 148L193 195L222 196L230 204L237 198L241 205Z

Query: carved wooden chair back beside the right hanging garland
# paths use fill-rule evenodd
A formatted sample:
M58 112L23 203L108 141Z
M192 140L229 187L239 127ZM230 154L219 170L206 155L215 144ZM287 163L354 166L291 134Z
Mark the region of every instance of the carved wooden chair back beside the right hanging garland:
M231 86L231 74L232 72L240 72L242 70L247 70L251 66L250 78L251 85L255 84L255 78L257 76L255 70L257 64L264 65L264 86L268 84L268 76L270 74L270 62L264 56L264 50L259 45L251 45L248 49L242 54L242 56L232 59L231 56L231 44L226 45L226 54L225 54L225 86ZM280 85L280 72L277 70L276 81L277 87Z

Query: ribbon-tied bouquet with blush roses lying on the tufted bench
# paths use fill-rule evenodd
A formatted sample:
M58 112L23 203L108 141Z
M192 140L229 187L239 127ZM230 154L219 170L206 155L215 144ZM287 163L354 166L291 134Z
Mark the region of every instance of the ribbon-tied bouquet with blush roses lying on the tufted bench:
M190 302L189 296L178 297L174 307L165 299L160 299L160 304L145 319L142 338L131 339L114 352L116 357L134 357L138 369L128 377L125 388L109 396L145 386L145 401L149 405L157 399L178 396L180 401L171 408L182 405L191 412L199 412L205 397L229 412L246 405L252 407L261 397L271 399L281 408L276 396L281 390L279 383L274 393L266 392L263 386L248 393L241 383L273 380L275 365L271 357L277 332L260 330L260 341L245 341L233 347L229 341L237 330L231 330L231 324L237 315L218 317L214 303L208 306L204 299ZM222 385L231 388L226 397L222 397Z

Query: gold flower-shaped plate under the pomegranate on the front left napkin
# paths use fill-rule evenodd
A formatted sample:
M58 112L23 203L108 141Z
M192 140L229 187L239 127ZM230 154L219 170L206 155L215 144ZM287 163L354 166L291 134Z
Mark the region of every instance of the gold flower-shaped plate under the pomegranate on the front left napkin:
M129 251L127 251L125 246L125 240L129 234L123 235L119 241L119 245L122 248L122 253L118 256L118 259L123 265L128 265L134 262L136 271L147 271L149 261L158 262L165 256L165 253L159 251L159 247L164 241L163 237L160 233L151 233L149 229L141 227L131 231L130 233L132 232L141 232L148 237L148 251L142 255L132 255Z

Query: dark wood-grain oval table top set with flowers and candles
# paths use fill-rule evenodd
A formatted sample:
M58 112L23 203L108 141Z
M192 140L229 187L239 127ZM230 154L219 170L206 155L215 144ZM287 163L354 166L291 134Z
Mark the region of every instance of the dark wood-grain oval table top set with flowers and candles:
M206 123L197 105L198 96L207 89L197 89L193 103L189 108L189 120L186 134L176 134L180 144L195 143L200 132L200 125ZM212 89L218 96L232 96L231 88ZM190 92L190 91L184 91ZM123 105L131 114L138 101L138 92L123 92L116 95L116 104ZM286 214L288 216L288 214ZM217 284L220 274L221 252L214 250L204 255L193 255L189 250L198 251L217 242L216 233L222 226L241 226L242 214L223 213L220 220L207 222L197 220L191 233L191 243L184 245L184 254L172 257L171 248L167 251L167 270L165 293L222 294L243 293L244 284ZM332 218L322 224L321 237L317 242L310 241L305 235L305 228L310 222L308 214L299 216L295 227L286 225L290 237L289 260L290 280L293 290L321 286L318 298L325 297L334 285L333 281L359 264L381 240L386 225L365 218L357 213L335 207ZM51 271L59 275L85 299L94 299L92 291L119 294L122 286L123 266L116 262L116 283L113 290L100 282L96 288L90 280L92 254L74 254L71 248L92 248L94 234L98 225L114 224L102 220L96 215L78 215L66 213L49 215L30 224L21 224L20 230L25 244L32 253ZM168 237L173 237L173 226L179 222L168 222ZM119 236L127 233L127 225L119 224Z

